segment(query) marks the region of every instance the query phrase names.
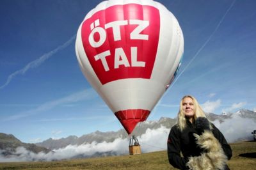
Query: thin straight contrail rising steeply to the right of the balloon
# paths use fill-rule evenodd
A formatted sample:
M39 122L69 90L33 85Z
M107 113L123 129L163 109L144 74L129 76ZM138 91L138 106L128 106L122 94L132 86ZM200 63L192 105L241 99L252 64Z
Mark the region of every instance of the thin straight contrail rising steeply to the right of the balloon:
M209 38L205 41L205 43L202 45L202 47L200 47L200 49L196 52L195 56L189 61L188 65L185 66L184 70L182 70L182 72L179 74L179 76L177 77L177 79L175 79L175 81L171 84L171 87L175 84L175 82L179 79L180 75L182 75L182 73L185 72L185 70L188 68L188 66L194 61L194 59L198 56L198 54L201 52L202 49L204 49L205 45L207 45L207 43L212 39L212 36L216 33L216 31L219 29L221 23L223 22L223 20L225 19L225 17L227 16L228 12L230 11L230 9L234 6L234 3L236 3L236 0L234 0L232 2L232 4L229 6L229 8L227 9L226 13L223 15L223 17L221 18L220 22L218 23L218 25L216 26L216 28L214 29L214 31L212 32L212 34L209 36Z

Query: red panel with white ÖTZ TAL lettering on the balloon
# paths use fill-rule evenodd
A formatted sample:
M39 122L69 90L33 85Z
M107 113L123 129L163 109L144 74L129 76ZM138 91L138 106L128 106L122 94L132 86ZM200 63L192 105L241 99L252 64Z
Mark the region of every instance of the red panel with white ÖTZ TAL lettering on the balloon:
M85 20L83 47L100 82L150 79L159 30L159 10L140 4L110 6Z

